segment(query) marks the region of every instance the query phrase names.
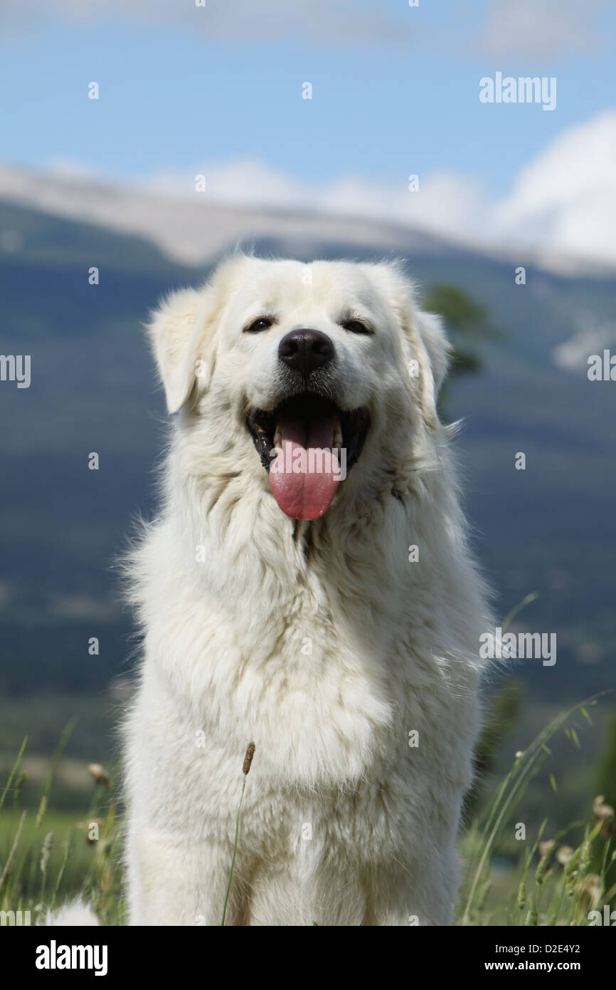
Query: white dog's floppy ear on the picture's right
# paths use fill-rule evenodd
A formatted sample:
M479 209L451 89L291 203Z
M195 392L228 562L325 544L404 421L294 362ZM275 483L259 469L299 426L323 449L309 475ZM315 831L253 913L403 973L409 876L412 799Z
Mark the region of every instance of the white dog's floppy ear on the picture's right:
M371 274L389 300L416 360L420 378L423 414L429 423L437 422L436 398L449 367L451 345L443 323L435 313L419 309L414 287L396 262L368 265ZM411 365L409 374L416 377Z

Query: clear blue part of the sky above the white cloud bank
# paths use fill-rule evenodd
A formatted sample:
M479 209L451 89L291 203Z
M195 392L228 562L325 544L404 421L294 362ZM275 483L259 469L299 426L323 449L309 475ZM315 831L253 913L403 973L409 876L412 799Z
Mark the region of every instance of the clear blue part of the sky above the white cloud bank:
M39 9L36 20L15 18L5 29L2 155L16 164L69 160L123 178L249 156L311 182L346 172L395 181L455 168L497 193L555 135L616 102L614 46L606 44L610 29L612 43L616 37L615 17L600 9L582 19L596 39L585 49L561 43L550 51L548 39L543 52L500 53L480 42L493 7L482 2L469 22L459 3L420 0L411 9L390 0L380 6L399 39L376 32L347 41L334 32L328 44L315 33L303 43L301 24L285 30L284 14L271 40L268 2L252 38L249 25L233 31L232 17L209 37L208 8L176 23L171 0L167 19L159 5L158 21L139 16L138 3L132 18L123 16L132 0L115 14L111 4L102 20L94 8L77 19L64 6L62 18L41 20ZM310 3L302 7L309 16ZM358 0L347 10L350 23L369 8ZM328 38L326 15L320 23ZM556 110L481 104L479 80L496 69L555 75ZM87 99L91 80L100 83L99 101ZM301 97L306 80L311 101Z

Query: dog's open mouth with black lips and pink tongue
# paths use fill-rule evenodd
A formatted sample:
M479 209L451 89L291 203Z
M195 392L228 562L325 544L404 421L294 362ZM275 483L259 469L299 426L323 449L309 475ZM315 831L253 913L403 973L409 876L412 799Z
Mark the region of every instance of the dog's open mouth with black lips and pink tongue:
M246 422L280 508L293 519L318 519L362 452L370 415L307 392L271 413L252 409Z

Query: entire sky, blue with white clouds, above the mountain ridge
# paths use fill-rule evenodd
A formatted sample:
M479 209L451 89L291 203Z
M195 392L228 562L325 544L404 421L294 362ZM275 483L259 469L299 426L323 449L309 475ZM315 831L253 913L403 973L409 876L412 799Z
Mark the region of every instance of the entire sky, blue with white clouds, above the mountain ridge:
M616 259L611 0L206 2L14 0L0 164ZM556 109L480 102L497 71Z

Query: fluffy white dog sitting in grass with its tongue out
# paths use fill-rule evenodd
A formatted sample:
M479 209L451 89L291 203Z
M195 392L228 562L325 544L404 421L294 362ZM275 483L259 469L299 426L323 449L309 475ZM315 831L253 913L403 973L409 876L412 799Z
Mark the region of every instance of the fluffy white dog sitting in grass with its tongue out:
M439 320L393 264L234 256L149 333L131 924L220 925L242 782L225 924L451 924L487 609Z

